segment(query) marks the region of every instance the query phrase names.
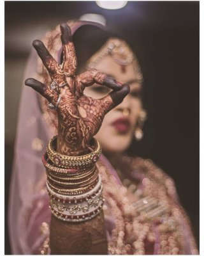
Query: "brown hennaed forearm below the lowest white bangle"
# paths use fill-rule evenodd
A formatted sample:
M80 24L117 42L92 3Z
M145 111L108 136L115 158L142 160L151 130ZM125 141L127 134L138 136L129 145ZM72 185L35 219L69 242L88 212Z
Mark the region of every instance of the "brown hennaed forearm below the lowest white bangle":
M92 220L68 223L52 215L50 225L52 254L103 254L108 252L103 211Z

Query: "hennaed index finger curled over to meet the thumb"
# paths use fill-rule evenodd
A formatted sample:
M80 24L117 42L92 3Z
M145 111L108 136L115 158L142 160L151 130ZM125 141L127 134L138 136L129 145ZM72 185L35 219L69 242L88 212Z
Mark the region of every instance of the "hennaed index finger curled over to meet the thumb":
M121 89L122 84L115 81L113 77L106 76L96 69L88 70L76 77L77 92L82 95L85 87L91 86L94 83L104 85L114 91Z

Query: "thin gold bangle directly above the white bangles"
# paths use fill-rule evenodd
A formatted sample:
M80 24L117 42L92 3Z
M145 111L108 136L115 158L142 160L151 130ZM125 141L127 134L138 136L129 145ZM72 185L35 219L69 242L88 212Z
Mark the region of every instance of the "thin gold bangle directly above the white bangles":
M55 188L50 182L47 180L48 186L52 188L55 192L61 194L61 195L82 195L86 193L87 191L90 191L94 186L96 186L96 183L98 182L98 179L96 181L92 182L92 184L89 184L89 186L86 186L84 188L76 188L76 189L59 189Z

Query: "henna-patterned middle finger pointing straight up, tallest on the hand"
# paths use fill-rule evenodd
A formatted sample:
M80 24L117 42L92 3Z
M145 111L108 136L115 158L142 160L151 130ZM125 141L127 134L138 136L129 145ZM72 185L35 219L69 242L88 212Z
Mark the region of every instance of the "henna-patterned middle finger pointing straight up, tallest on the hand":
M60 29L63 51L62 69L67 73L66 76L73 77L77 68L77 57L72 42L71 29L66 23L61 24Z

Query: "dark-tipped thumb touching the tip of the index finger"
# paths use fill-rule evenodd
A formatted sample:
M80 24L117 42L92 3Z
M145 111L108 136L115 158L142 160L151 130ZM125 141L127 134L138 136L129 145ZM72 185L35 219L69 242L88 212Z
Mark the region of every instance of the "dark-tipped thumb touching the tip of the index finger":
M124 97L128 95L129 91L129 84L123 84L120 87L120 90L110 92L108 95L100 99L103 105L103 111L107 113L112 108L115 108L117 105L119 105L124 99Z

